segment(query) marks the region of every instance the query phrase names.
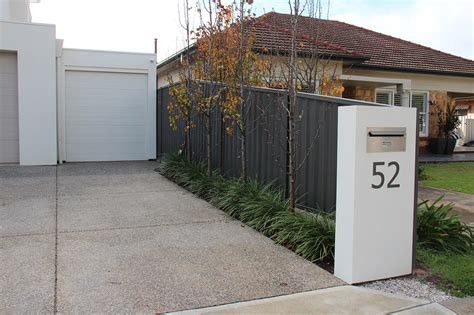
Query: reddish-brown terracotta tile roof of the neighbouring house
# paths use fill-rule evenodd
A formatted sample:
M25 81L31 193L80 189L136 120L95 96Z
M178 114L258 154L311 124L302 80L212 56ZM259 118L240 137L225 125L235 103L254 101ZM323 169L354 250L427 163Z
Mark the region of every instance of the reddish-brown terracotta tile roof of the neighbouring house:
M275 12L258 17L254 25L256 48L288 51L290 19L288 14ZM297 38L300 53L314 51L316 44L323 55L362 59L356 66L474 76L473 60L344 22L301 17Z

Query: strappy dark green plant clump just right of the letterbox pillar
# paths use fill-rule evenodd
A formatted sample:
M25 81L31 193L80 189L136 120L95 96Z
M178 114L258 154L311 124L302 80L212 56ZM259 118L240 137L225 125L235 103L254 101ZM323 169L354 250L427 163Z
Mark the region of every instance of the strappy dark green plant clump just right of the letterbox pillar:
M473 248L473 228L451 214L453 204L440 203L442 196L433 203L418 205L418 245L436 251L467 253Z

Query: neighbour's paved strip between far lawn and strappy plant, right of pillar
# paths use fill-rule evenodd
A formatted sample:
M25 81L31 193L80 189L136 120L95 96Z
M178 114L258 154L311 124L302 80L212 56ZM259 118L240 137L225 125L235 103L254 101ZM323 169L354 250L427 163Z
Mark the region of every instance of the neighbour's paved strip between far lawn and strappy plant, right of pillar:
M474 226L474 195L439 188L418 187L418 198L422 200L434 201L443 195L443 202L454 203L453 210L459 214L465 223Z

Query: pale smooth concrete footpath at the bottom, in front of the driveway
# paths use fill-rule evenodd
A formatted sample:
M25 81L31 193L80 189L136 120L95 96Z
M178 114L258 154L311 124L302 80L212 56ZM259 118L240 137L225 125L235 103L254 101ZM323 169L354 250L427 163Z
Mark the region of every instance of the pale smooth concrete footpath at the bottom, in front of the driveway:
M455 314L448 308L354 286L340 286L268 299L172 313L174 315L260 314Z

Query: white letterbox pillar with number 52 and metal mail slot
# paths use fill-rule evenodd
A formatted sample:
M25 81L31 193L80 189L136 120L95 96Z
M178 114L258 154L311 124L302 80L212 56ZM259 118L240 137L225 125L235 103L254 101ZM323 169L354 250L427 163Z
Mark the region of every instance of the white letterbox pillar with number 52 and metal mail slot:
M412 272L415 108L339 107L334 274L348 283Z

